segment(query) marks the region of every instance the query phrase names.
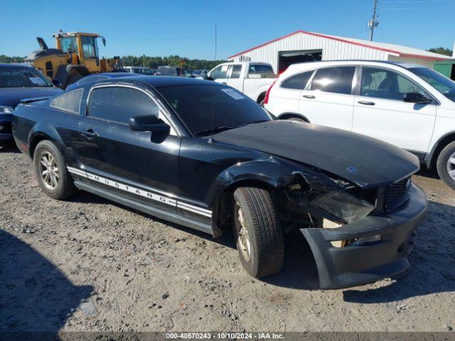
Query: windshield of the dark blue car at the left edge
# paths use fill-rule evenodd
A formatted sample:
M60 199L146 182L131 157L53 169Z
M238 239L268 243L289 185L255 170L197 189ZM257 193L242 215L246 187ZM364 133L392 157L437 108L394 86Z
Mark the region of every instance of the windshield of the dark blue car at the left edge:
M33 67L1 67L0 87L53 87L53 85Z

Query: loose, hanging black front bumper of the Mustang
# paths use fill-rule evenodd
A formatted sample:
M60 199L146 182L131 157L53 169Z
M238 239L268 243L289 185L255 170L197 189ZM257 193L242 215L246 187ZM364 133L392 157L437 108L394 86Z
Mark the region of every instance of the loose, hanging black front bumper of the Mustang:
M427 196L416 185L410 199L392 212L364 217L336 229L301 229L316 260L319 283L323 289L344 288L378 281L410 267L408 242L424 220ZM331 242L380 236L365 244L333 247Z

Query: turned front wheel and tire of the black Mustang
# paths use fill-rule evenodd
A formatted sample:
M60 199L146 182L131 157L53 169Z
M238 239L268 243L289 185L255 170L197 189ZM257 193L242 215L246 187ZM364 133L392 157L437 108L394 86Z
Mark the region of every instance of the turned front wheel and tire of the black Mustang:
M269 192L237 188L233 213L237 251L247 273L259 278L280 271L284 260L283 232Z

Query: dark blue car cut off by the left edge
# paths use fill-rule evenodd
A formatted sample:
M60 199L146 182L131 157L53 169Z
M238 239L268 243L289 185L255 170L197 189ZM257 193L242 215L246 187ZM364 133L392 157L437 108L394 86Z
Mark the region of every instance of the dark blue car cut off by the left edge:
M28 64L0 64L0 146L11 147L11 117L21 99L63 92Z

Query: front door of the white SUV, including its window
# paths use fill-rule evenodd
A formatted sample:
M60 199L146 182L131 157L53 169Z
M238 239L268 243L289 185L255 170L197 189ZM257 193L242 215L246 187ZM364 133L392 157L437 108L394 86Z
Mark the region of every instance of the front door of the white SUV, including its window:
M362 67L355 97L353 131L401 148L427 152L436 119L436 103L403 101L409 92L431 97L416 82L392 69Z

